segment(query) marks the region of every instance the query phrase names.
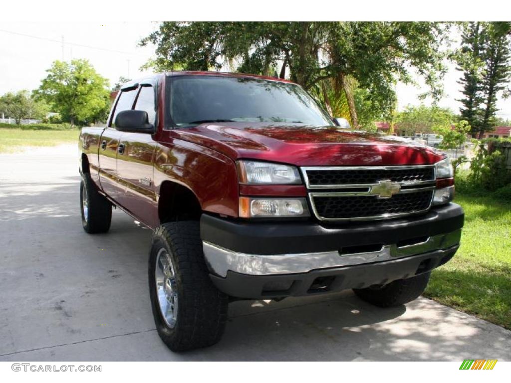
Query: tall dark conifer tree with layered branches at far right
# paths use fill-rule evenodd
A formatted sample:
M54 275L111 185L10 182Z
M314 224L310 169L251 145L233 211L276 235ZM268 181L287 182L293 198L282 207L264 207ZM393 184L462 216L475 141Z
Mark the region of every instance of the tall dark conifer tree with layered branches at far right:
M462 42L454 55L463 72L461 118L471 126L473 137L481 138L496 124L497 97L509 95L511 37L503 22L462 23Z

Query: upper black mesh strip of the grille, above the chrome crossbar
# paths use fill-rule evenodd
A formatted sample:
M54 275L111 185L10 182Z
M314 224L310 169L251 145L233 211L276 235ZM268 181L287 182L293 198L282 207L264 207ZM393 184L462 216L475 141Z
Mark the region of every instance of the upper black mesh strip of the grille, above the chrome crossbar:
M392 182L432 181L435 179L433 167L413 169L356 169L356 170L307 170L310 185L347 185L378 183L380 180Z

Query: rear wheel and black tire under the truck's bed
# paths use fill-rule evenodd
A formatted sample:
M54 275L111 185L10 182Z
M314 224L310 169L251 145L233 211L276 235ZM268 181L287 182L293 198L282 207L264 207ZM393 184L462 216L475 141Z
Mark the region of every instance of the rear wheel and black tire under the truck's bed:
M84 196L84 190L86 196ZM83 200L87 198L88 204L85 210ZM80 210L82 211L82 226L89 234L106 233L112 222L112 205L101 194L92 182L89 173L84 173L80 183ZM85 211L87 211L85 213ZM87 217L85 217L87 214Z

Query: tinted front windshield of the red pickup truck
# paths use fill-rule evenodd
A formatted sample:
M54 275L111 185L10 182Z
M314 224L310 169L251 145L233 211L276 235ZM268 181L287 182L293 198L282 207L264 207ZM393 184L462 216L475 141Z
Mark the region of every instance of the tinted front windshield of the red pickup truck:
M223 76L174 76L169 82L170 117L176 126L206 122L334 125L295 84Z

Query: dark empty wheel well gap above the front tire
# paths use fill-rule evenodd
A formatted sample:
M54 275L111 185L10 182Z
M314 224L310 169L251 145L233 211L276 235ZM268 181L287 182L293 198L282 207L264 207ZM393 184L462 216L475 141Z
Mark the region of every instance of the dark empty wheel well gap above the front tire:
M200 219L202 209L195 194L187 187L164 181L159 190L158 218L160 223Z

